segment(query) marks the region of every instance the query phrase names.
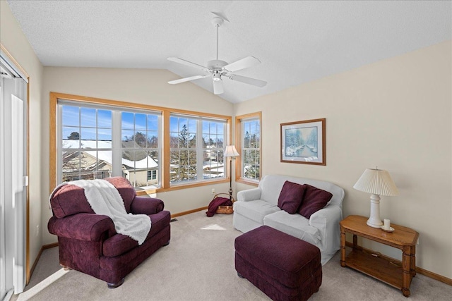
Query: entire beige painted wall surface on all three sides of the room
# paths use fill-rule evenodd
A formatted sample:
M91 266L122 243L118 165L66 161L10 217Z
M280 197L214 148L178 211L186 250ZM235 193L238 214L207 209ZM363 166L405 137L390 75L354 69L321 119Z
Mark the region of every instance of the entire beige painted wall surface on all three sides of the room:
M387 169L400 195L382 197L382 218L420 232L417 266L452 278L451 42L233 106L190 83L167 85L174 75L165 70L43 71L6 1L0 1L0 13L0 42L30 75L31 264L42 245L56 241L47 233L49 92L53 91L225 115L262 111L263 174L303 176L342 186L344 216L369 214L369 195L352 189L362 171L375 166ZM327 165L280 163L280 123L323 117ZM176 190L157 197L176 213L206 206L211 188L221 192L228 186ZM249 186L237 184L237 188ZM35 235L37 226L45 231L42 236ZM398 251L383 249L398 257Z

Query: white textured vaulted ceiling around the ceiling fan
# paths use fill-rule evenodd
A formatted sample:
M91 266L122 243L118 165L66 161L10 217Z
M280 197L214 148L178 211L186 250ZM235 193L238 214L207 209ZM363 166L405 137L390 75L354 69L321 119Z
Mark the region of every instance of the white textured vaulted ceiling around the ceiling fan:
M367 63L451 40L451 1L12 1L8 4L44 66L159 68L202 74L167 61L206 66L255 56L239 75L266 87L223 80L220 97L243 102ZM179 75L179 76L178 76ZM211 78L193 81L213 91ZM185 82L179 85L191 85Z

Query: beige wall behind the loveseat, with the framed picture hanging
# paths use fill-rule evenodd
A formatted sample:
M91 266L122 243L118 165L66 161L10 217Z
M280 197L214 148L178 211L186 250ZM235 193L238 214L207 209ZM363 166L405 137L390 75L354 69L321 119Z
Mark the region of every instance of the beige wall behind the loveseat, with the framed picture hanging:
M369 215L370 195L352 188L364 169L388 170L400 195L381 197L381 218L418 231L417 266L452 278L451 80L449 41L237 104L234 114L262 111L264 175L340 185L344 216ZM326 166L281 163L280 123L314 118L326 118Z

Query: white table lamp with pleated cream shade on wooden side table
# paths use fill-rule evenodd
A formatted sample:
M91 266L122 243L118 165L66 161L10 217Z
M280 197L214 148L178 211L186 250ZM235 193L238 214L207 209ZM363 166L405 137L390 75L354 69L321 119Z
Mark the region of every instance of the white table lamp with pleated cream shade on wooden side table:
M388 171L378 168L367 168L362 176L353 185L359 191L371 194L370 216L367 225L374 228L381 228L383 223L380 219L380 195L398 195L398 189Z

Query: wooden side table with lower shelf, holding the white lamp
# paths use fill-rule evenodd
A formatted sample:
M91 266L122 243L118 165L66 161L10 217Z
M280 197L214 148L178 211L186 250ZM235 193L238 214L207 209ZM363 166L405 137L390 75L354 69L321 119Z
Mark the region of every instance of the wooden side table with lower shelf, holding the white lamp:
M392 233L366 224L367 217L350 215L340 221L340 266L348 266L371 277L379 279L402 290L405 297L410 296L412 277L416 275L416 242L419 233L403 226L393 225ZM345 257L345 233L353 234L352 252ZM402 266L388 262L379 254L364 252L357 244L357 236L384 245L396 247L403 252Z

